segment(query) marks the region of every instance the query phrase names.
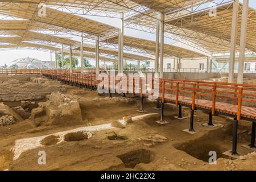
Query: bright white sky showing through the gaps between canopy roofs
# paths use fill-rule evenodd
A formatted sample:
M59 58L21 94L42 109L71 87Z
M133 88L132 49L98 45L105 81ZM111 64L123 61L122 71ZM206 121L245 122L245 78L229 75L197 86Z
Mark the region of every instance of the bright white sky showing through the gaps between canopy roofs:
M240 2L242 2L242 1L243 0L240 0ZM256 9L256 1L249 0L249 6ZM119 20L114 19L114 18L86 16L86 15L85 15L85 17L89 18L89 19L97 20L98 22L106 23L106 24L109 24L109 25L115 26L115 27L119 27L119 24L120 24ZM155 35L148 34L148 33L142 32L142 31L131 30L129 28L125 28L124 34L129 35L129 36L134 36L135 38L142 38L142 39L148 39L148 40L155 41ZM170 39L165 39L164 43L172 44L175 42ZM32 50L32 49L18 49L18 50L16 50L16 49L1 50L0 49L0 55L1 55L0 66L5 65L5 64L8 65L11 63L11 61L14 61L14 60L22 58L22 57L34 57L36 59L44 60L44 61L46 61L46 60L49 61L51 59L51 55L49 52L36 51L36 50ZM55 55L53 53L52 53L52 60L55 60ZM94 65L95 61L90 60L90 63Z

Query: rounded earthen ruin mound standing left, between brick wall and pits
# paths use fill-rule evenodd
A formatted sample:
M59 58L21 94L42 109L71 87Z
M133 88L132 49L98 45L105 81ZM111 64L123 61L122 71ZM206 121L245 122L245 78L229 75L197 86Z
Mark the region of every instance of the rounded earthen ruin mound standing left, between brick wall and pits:
M31 119L46 115L47 125L65 125L82 122L79 102L60 92L53 92L47 102L39 103L39 107L31 112Z

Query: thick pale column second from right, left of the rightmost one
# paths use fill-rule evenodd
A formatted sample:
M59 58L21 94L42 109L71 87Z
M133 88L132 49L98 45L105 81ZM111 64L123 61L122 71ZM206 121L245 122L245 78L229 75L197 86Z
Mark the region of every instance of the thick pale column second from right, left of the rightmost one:
M238 18L238 0L233 2L233 15L232 15L232 31L230 41L230 56L229 56L229 79L228 82L234 81L234 63L236 60L236 39L237 39L237 18Z

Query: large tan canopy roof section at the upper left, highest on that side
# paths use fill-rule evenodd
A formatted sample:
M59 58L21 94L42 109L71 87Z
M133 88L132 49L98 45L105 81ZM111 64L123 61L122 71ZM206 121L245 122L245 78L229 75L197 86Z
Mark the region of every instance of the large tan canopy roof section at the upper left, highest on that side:
M97 36L104 35L107 32L117 29L104 23L49 7L46 7L46 15L39 16L38 5L34 3L0 2L0 10L1 14L4 15L16 16L18 18L31 20L32 22L47 23L53 26Z

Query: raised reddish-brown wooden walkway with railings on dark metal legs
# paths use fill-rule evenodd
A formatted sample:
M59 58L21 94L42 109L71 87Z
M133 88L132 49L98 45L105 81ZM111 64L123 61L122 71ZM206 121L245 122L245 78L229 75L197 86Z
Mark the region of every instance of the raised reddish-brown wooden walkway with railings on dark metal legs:
M41 70L44 76L52 79L64 81L67 84L85 86L85 88L97 88L102 81L110 83L112 78L99 77L95 74L70 73L60 70ZM129 80L130 81L130 80ZM224 82L209 82L195 80L172 80L159 79L147 80L146 78L133 78L131 82L133 96L139 96L141 99L141 111L143 111L143 99L151 97L153 93L148 93L143 89L145 85L150 85L151 90L158 88L159 94L156 96L158 105L161 103L161 121L164 121L164 104L169 102L179 106L179 118L182 118L182 106L191 108L191 117L189 131L194 131L193 116L195 110L204 110L209 113L208 125L213 125L213 115L227 115L234 118L233 121L233 148L231 154L237 154L237 130L238 121L244 119L252 122L251 129L251 148L255 148L255 129L256 129L256 85L249 84L230 84ZM106 83L105 82L105 83ZM115 80L116 85L120 80ZM147 87L146 86L146 87ZM158 86L158 87L155 87ZM102 89L110 90L111 86L104 85ZM127 88L121 89L124 94ZM138 91L139 90L139 91ZM111 96L111 94L110 94Z

